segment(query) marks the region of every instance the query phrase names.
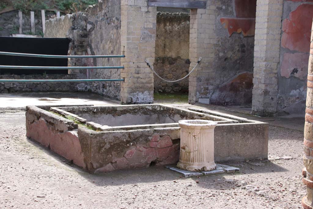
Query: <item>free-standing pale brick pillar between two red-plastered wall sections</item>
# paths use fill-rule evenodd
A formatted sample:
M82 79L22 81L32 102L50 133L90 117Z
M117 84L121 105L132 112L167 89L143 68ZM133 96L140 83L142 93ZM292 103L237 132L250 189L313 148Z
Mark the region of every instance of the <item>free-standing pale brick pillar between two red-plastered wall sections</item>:
M260 116L277 111L282 10L283 0L257 0L252 111Z

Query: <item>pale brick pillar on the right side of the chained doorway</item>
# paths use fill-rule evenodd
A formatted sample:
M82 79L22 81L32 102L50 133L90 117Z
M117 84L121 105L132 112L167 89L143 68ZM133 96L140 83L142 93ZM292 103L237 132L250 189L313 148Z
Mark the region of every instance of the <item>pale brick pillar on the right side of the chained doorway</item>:
M207 1L206 9L191 9L190 11L190 38L189 71L202 57L200 65L189 76L189 103L198 102L199 98L209 98L214 86L217 85L213 60L216 43L215 31L216 8L215 0Z

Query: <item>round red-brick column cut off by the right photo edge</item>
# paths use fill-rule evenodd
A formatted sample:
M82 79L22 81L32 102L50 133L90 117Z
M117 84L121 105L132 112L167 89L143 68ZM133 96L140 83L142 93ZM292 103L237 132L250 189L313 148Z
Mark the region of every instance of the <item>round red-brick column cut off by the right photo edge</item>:
M302 199L302 208L313 206L313 25L311 34L311 50L308 69L308 85L306 94L305 125L304 125L304 156L305 168L302 182L306 185L307 196Z

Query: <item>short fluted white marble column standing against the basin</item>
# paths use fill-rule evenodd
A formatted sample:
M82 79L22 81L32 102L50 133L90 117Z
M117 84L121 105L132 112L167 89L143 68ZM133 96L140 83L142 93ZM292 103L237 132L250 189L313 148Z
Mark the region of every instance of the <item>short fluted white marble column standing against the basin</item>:
M214 170L214 128L217 122L182 120L180 158L177 167L189 171Z

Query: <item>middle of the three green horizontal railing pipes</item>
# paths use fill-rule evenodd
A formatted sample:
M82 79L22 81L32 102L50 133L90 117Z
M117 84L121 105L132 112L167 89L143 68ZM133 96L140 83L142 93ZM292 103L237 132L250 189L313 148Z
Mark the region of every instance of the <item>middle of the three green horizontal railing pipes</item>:
M0 68L7 69L37 69L37 70L67 70L67 69L123 69L124 66L109 66L109 67L50 67L50 66L13 66L13 65L0 65Z

